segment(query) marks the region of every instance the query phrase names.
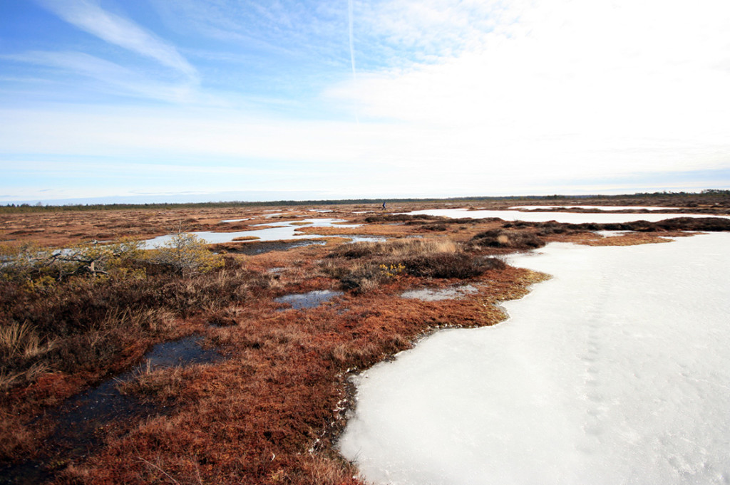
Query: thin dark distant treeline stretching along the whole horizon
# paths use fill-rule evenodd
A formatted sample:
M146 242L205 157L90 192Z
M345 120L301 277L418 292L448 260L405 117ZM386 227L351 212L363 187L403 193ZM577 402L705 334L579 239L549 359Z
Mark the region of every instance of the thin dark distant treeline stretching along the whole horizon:
M454 197L454 198L359 198L359 199L337 199L327 201L268 201L268 202L246 202L246 201L219 201L219 202L196 202L196 203L93 203L93 204L67 204L64 206L43 205L37 203L30 205L21 203L15 205L9 203L0 206L0 214L12 214L18 212L78 212L78 211L116 211L125 209L200 209L200 208L224 208L224 207L268 207L268 206L334 206L341 204L369 205L380 204L383 201L388 203L438 203L438 202L479 202L479 201L555 201L572 199L626 199L626 198L704 198L705 197L730 197L730 190L707 189L702 192L653 192L634 193L623 195L485 195L475 197Z

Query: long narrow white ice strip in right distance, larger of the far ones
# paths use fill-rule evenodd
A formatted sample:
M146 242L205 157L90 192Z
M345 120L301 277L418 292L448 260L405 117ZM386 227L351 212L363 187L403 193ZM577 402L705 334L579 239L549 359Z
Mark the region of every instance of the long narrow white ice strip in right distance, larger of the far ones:
M658 222L672 217L730 217L710 216L708 214L591 214L581 212L469 211L468 209L426 209L423 211L408 212L407 214L427 214L431 216L451 217L453 219L459 217L471 217L472 219L499 217L502 220L523 220L528 222L548 222L554 220L570 224L582 224L583 222L615 224L617 222L631 222L635 220Z

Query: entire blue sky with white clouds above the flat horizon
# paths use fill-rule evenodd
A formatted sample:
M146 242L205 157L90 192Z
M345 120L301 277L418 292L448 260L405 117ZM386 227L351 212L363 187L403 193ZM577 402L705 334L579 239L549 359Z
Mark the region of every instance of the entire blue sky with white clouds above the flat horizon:
M730 187L726 0L0 0L0 203Z

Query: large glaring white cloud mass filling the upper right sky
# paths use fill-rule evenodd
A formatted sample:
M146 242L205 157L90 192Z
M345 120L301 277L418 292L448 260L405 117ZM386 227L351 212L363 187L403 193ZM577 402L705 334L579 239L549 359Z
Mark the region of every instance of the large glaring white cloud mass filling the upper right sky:
M446 36L453 44L480 7L446 4L386 4L410 12L410 26L396 32L400 25L385 20L377 28L411 44L453 30ZM730 58L727 2L484 8L499 12L500 23L464 27L467 48L456 55L360 71L356 84L343 82L326 96L357 106L361 119L390 120L404 136L388 153L424 164L546 179L730 166L730 72L721 68Z

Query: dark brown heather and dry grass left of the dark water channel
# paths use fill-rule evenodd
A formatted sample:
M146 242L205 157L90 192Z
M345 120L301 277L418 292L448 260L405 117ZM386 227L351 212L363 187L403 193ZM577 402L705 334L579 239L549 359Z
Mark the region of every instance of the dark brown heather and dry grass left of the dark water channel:
M200 330L202 309L213 314L247 298L257 276L242 268L194 279L79 276L42 290L0 282L0 414L18 418L0 430L0 458L26 449L18 435L47 435L46 423L33 416L128 368L156 342Z

